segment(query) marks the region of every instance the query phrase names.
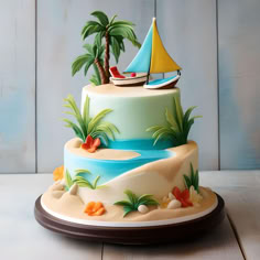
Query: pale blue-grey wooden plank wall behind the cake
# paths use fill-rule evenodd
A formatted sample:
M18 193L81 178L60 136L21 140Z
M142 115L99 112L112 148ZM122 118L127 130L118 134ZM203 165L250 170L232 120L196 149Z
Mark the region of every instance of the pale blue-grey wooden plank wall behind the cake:
M137 24L142 42L158 18L169 53L182 65L185 108L197 105L191 138L201 170L260 167L260 1L2 0L0 3L0 173L51 172L73 133L63 98L79 101L80 30L94 10ZM137 50L127 44L119 67Z

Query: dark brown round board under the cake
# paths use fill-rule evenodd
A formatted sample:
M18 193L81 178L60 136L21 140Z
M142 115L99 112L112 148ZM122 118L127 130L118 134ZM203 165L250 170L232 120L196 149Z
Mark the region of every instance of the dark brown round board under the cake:
M217 195L218 206L204 217L178 224L152 227L98 227L65 221L53 217L41 206L41 196L35 202L34 215L45 228L67 237L89 241L123 245L149 245L199 238L219 225L225 217L224 199Z

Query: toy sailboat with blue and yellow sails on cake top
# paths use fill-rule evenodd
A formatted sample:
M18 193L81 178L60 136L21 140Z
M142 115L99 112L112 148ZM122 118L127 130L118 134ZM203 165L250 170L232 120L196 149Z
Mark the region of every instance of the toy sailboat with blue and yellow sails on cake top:
M145 80L142 79L142 83L145 84L143 85L143 87L150 89L158 89L174 87L181 77L181 69L182 68L171 58L171 56L164 48L162 40L158 32L156 20L155 18L153 18L152 25L144 39L141 48L139 50L138 54L130 63L130 65L127 67L124 73L144 73ZM177 72L177 75L162 79L149 80L150 74L170 72ZM120 83L120 86L130 86L131 82L133 82L134 78L137 79L137 77L124 77L120 74L118 75L121 78L111 77L111 80L117 86L118 83ZM144 77L144 75L142 75L142 78Z

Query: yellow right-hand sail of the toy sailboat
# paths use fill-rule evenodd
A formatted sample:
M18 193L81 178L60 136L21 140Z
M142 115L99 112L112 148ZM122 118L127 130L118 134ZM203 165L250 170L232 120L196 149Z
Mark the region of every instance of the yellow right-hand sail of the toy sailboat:
M153 36L152 36L152 56L150 73L169 73L181 71L182 68L170 57L163 46L162 40L158 32L155 19L153 19Z

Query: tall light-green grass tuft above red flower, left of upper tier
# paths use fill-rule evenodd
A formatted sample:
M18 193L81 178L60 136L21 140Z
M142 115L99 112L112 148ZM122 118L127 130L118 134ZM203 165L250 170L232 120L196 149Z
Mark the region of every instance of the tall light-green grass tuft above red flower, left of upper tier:
M69 109L69 111L65 111L65 113L68 113L76 119L76 123L71 121L69 119L63 119L63 121L66 122L65 127L72 128L76 137L82 139L83 142L86 141L88 134L90 134L94 139L100 138L105 145L108 144L109 138L111 140L115 140L115 133L119 133L119 130L113 123L104 121L104 118L112 111L111 109L104 109L95 117L90 118L90 99L88 96L86 96L84 102L83 115L80 113L76 101L72 95L68 95L67 98L65 98L64 100L64 107Z

